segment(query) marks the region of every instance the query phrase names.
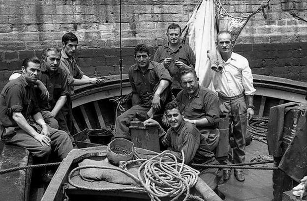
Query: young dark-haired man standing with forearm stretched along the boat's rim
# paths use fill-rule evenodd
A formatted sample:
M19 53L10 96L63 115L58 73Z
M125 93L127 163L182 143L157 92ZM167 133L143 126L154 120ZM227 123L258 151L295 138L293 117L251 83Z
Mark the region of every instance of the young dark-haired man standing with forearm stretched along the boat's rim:
M89 78L86 76L78 66L74 57L78 47L78 38L75 34L68 32L62 36L62 51L60 67L68 74L68 93L66 104L63 112L67 119L67 126L71 132L72 127L72 103L70 96L74 93L74 86L81 86L86 84L98 85L104 82L104 79Z

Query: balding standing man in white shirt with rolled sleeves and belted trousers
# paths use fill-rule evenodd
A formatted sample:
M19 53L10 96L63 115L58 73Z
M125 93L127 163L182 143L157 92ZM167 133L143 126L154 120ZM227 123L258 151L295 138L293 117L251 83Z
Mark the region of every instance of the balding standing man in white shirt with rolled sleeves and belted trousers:
M213 83L218 92L220 111L228 113L229 127L233 123L235 140L233 163L244 163L247 119L251 119L254 115L253 77L247 59L232 52L231 32L220 31L217 34L216 45L225 65L222 73L213 72ZM231 170L224 169L224 180L229 179L230 172ZM235 176L238 181L245 180L242 169L235 169Z

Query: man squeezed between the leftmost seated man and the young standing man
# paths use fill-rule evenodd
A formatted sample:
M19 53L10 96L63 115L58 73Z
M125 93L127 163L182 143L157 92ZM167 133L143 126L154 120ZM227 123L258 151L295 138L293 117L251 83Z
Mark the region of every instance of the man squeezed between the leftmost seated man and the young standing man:
M59 67L60 58L61 53L57 48L45 48L42 52L43 62L41 63L39 80L47 87L49 97L47 100L39 101L39 108L42 110L43 117L44 115L55 117L58 120L59 129L68 133L70 139L74 142L62 111L69 94L67 88L68 74Z

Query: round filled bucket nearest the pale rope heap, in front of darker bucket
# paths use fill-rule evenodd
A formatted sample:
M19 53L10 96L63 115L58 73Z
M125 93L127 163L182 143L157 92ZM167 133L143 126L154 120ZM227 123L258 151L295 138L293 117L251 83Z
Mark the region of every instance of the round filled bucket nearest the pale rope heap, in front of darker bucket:
M133 159L134 144L126 139L117 138L108 144L107 158L113 165L118 166L120 161L130 161Z

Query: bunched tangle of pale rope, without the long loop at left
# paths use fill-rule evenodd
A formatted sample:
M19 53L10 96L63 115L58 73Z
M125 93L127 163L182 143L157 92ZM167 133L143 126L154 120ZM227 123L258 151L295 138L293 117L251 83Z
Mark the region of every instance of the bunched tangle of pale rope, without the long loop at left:
M148 192L152 201L161 201L160 198L170 197L177 200L185 193L184 201L190 196L190 188L193 187L198 178L199 172L184 165L184 152L182 151L183 162L178 164L176 156L171 153L162 152L164 157L159 161L148 160L144 162L138 171L138 177ZM171 162L163 162L165 157L171 158ZM154 157L156 158L156 157ZM144 169L143 176L141 172Z

